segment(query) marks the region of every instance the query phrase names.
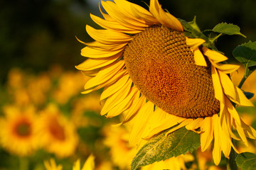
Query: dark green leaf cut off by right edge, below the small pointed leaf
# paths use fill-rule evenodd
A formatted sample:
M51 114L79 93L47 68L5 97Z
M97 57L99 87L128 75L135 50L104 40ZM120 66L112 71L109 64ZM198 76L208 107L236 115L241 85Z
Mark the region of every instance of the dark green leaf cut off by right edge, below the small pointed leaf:
M245 66L245 78L247 78L256 69L256 42L247 42L233 50L233 56L236 60Z

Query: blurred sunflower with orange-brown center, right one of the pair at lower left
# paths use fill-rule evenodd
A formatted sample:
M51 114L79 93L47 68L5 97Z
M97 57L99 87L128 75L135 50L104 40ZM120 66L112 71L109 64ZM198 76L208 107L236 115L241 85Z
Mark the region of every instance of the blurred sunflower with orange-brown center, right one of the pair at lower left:
M69 157L78 146L78 134L73 123L50 104L42 111L39 122L41 145L57 157Z

